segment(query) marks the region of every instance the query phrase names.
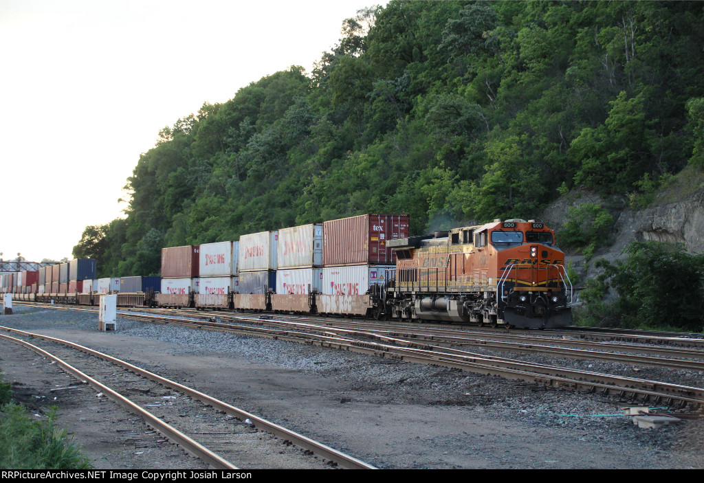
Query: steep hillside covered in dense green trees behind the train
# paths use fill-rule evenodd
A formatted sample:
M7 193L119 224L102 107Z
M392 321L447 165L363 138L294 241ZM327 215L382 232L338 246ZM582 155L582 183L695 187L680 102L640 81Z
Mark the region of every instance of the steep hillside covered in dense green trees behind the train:
M411 232L534 217L560 192L646 193L704 165L704 4L392 1L293 66L158 133L99 276L163 246L366 212Z

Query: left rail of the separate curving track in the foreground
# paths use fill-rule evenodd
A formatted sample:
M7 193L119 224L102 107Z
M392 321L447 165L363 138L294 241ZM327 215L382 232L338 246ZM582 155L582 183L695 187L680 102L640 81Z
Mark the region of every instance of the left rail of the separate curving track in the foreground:
M30 333L24 333L21 330L11 329L11 331L13 333L22 333L25 336L33 336ZM63 361L63 359L59 359L57 356L54 356L54 354L50 354L44 349L41 349L35 346L34 344L30 344L29 342L26 342L24 340L20 340L15 337L10 337L9 335L5 334L0 334L0 337L2 337L4 340L14 342L15 344L20 344L21 346L26 347L27 349L31 349L37 354L51 359L52 361L56 361L56 363L58 363L58 365L61 366L66 372L70 373L79 380L87 381L89 385L97 389L99 392L106 394L108 398L115 401L122 408L127 411L130 411L130 413L136 414L137 416L141 417L147 425L153 427L154 430L163 434L164 437L168 438L172 443L182 446L186 451L196 456L196 458L201 458L201 460L205 461L206 463L208 463L208 465L215 468L216 470L239 470L237 466L213 453L213 451L210 451L199 442L196 442L194 439L191 439L186 434L183 434L175 427L166 423L164 420L157 418L153 414L149 413L149 411L146 411L143 408L139 407L137 404L134 404L132 401L130 401L130 399L127 399L126 397L122 396L122 394L114 391L110 387L102 384L101 382L98 382L97 380L91 378L89 375L83 373L79 369L71 366L69 363Z

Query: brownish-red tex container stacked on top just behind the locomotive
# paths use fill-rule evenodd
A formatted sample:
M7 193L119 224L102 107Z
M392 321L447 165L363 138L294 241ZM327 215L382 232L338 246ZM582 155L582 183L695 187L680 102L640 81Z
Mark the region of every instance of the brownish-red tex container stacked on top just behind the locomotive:
M386 247L386 240L408 238L408 223L407 214L362 214L325 221L322 264L395 264L396 253Z

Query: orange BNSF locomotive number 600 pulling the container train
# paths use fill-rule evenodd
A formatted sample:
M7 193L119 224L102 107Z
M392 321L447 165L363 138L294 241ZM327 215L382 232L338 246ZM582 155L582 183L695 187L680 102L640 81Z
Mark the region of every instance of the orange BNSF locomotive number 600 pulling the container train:
M565 254L542 223L495 220L388 245L396 273L383 295L387 316L520 328L572 322Z

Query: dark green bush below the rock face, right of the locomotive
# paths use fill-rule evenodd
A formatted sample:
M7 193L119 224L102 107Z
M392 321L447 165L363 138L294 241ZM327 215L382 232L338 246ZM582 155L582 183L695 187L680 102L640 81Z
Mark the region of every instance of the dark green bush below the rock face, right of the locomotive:
M704 255L652 241L631 243L625 253L624 262L596 262L604 272L582 293L585 318L626 328L704 330ZM605 303L609 288L618 297Z

